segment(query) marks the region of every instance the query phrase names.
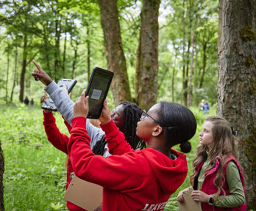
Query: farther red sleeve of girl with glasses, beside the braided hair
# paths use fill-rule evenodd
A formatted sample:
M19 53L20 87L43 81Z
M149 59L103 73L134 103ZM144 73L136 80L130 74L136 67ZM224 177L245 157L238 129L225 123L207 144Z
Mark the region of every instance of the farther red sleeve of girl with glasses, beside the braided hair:
M108 149L112 155L123 155L126 152L134 152L131 145L125 140L124 133L122 133L115 125L113 120L107 124L101 124L102 130L105 132Z

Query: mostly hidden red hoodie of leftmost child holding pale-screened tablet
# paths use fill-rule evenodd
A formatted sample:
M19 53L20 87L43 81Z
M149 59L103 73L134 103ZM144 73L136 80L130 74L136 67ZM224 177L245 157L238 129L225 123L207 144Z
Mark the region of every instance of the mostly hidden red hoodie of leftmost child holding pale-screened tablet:
M48 140L51 142L51 144L59 149L60 151L64 152L65 154L68 154L67 152L67 145L69 137L66 136L63 133L60 133L60 130L58 129L55 118L52 114L52 112L46 113L43 111L43 125L44 129L46 130L46 135ZM70 131L71 126L68 124L68 122L65 122L65 125L68 127L68 131ZM73 171L73 167L71 165L70 160L68 161L68 168L67 168L67 184L65 188L68 188L68 185L71 182L71 173ZM81 207L78 207L75 204L72 204L71 202L67 201L67 207L70 211L86 211L82 209Z

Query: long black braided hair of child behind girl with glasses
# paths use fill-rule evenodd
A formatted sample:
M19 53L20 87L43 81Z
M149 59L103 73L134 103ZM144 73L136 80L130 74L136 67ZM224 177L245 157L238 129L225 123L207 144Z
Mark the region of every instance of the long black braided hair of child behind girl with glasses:
M124 136L132 149L143 149L146 147L145 141L136 135L137 122L140 121L142 110L135 103L123 101L120 105L124 106ZM104 147L107 144L105 137L97 141L93 147L93 153L96 155L104 154Z

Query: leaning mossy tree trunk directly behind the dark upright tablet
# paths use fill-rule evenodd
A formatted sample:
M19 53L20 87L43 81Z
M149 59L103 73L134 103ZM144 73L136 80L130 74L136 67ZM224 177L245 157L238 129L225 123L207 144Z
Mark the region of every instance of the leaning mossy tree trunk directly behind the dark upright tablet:
M120 25L116 0L98 0L101 23L104 32L104 45L107 54L107 69L115 73L111 84L115 105L121 101L132 101L129 89L127 64L121 41Z

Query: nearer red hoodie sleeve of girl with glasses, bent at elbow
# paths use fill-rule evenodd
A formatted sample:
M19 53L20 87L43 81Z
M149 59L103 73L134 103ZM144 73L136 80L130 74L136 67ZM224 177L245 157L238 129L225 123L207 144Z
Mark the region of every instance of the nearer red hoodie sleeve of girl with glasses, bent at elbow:
M146 166L145 160L139 160L136 153L112 155L108 158L94 155L90 149L90 136L85 130L85 124L86 119L82 116L72 119L73 127L68 143L68 156L74 174L111 190L140 187L143 174L146 172L143 171L143 168L146 168L144 167Z

